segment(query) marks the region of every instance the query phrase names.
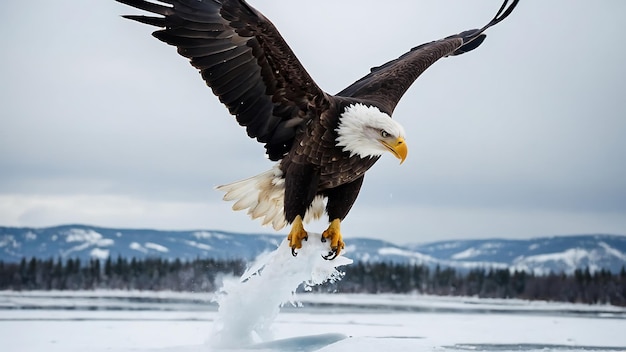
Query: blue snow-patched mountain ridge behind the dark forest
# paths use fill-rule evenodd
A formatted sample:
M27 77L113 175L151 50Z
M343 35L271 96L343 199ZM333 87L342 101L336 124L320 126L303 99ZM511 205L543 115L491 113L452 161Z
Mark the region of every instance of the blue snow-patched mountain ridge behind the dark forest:
M0 260L22 258L162 257L251 260L278 247L284 235L214 230L158 231L85 225L47 228L0 227ZM399 246L348 238L347 256L362 261L415 263L471 269L515 268L535 273L577 268L618 272L626 265L626 236L578 235L528 240L458 240Z

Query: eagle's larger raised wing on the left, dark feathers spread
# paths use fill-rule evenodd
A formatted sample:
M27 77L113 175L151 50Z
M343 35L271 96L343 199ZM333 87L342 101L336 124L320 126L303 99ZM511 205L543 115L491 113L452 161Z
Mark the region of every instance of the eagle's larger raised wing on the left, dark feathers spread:
M124 17L161 27L153 35L190 59L271 160L327 101L274 25L244 0L117 1L161 15Z

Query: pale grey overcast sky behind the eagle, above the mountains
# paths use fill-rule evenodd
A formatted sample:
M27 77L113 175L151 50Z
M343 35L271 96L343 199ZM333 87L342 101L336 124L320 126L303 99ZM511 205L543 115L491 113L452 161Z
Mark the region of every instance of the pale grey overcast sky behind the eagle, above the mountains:
M500 6L251 3L329 93ZM137 13L0 3L0 225L273 233L213 189L269 169L263 146L153 28L120 17ZM522 1L480 48L433 65L394 112L408 159L368 172L346 239L626 234L624 13L621 0Z

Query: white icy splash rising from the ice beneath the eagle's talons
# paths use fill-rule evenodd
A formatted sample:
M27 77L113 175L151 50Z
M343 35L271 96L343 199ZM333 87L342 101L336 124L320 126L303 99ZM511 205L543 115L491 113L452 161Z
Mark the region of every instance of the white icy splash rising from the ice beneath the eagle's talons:
M352 263L343 255L323 259L328 251L320 234L309 233L297 257L291 255L284 240L275 251L260 255L240 278L225 280L216 299L218 318L208 343L234 348L271 341L272 323L280 307L296 305L295 291L300 285L306 288L341 280L337 267Z

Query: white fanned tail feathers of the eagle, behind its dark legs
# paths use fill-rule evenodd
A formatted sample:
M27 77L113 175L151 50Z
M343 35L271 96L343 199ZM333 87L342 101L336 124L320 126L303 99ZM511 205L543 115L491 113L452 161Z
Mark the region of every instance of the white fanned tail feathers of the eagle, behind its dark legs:
M233 210L248 209L252 219L261 219L263 226L272 224L275 230L287 226L285 219L285 180L278 164L271 170L245 180L217 186L225 201L235 201ZM304 216L304 222L324 215L324 198L316 196Z

